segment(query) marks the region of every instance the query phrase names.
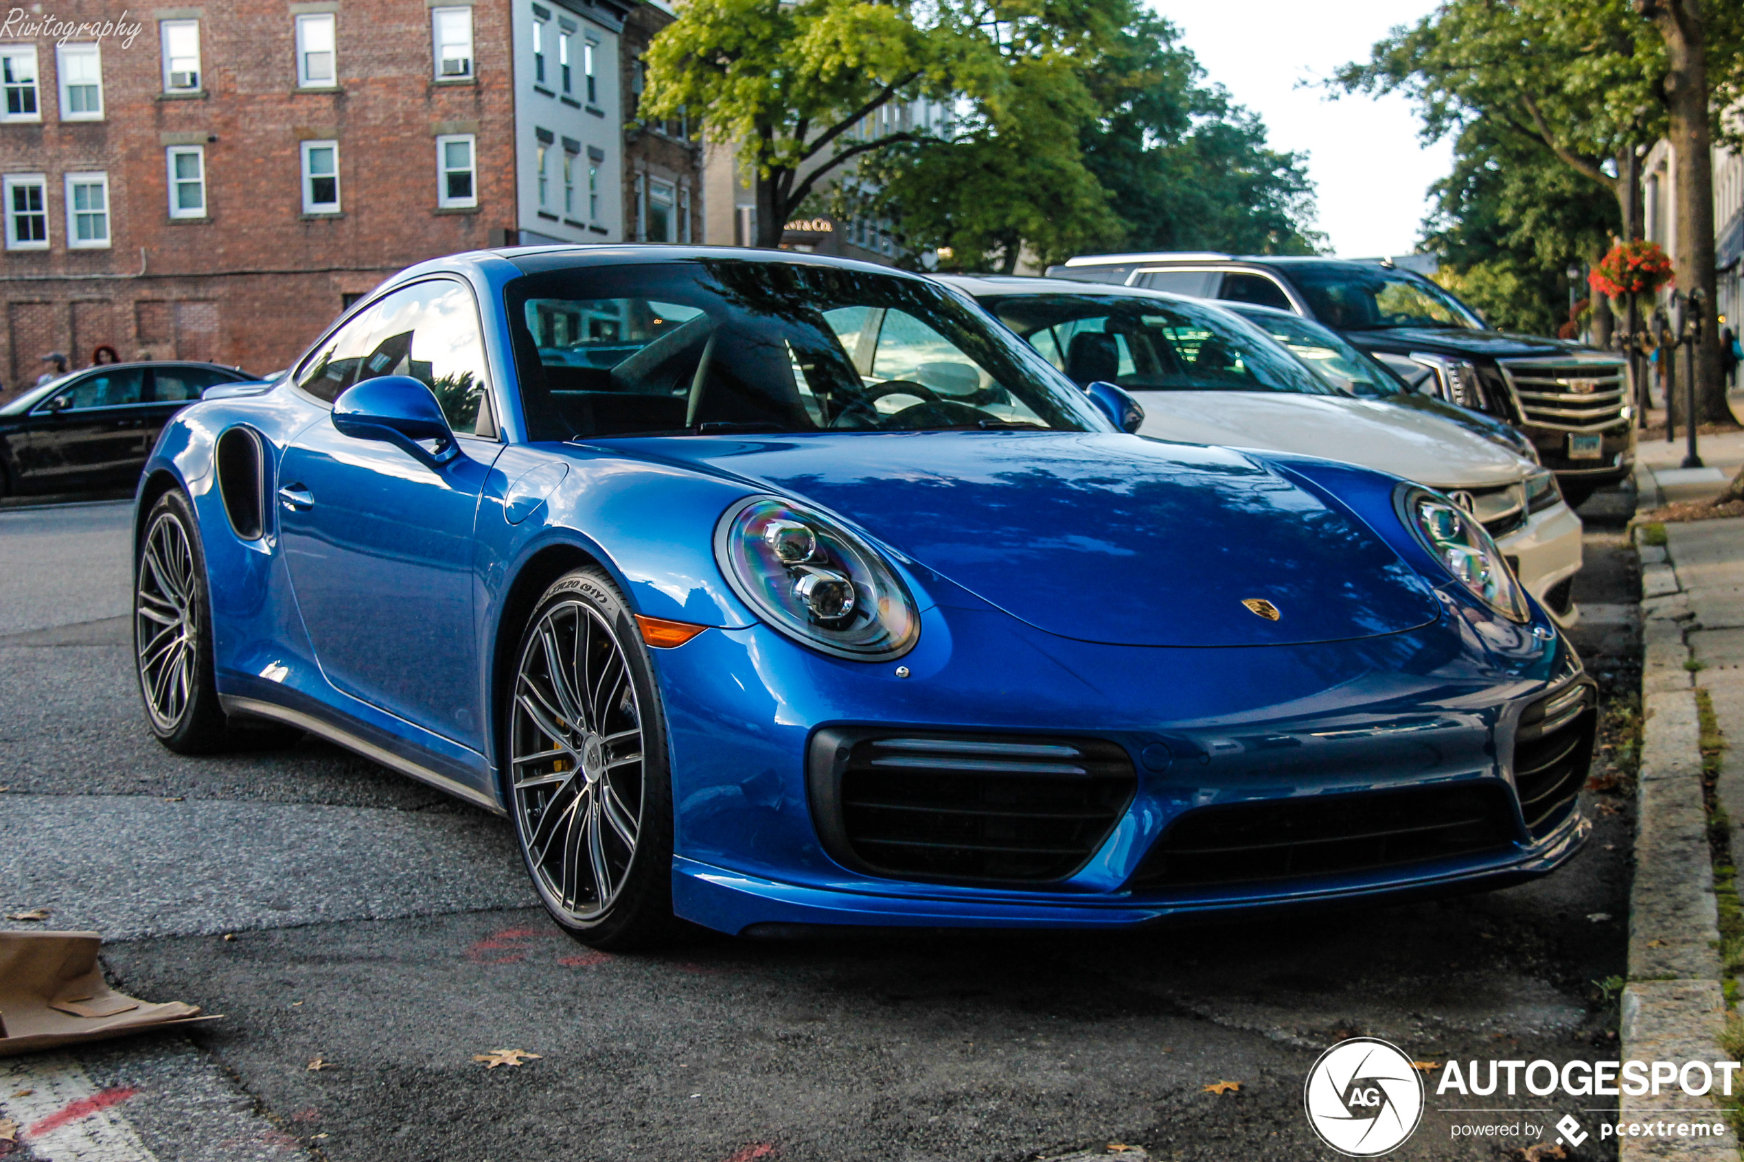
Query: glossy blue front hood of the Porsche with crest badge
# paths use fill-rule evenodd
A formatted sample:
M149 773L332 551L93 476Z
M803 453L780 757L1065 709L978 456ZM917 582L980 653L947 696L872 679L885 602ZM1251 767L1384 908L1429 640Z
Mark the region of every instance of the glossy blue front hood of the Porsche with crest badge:
M1095 432L633 443L832 509L1064 638L1294 645L1437 617L1428 585L1373 530L1226 448ZM1243 606L1250 598L1280 620Z

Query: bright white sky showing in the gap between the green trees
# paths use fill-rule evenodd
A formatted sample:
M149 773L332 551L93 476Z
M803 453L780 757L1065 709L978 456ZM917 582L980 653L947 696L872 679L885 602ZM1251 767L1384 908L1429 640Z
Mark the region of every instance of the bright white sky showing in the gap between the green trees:
M1317 82L1369 56L1395 24L1414 23L1435 0L1151 0L1181 28L1210 80L1259 113L1271 146L1308 153L1320 230L1350 258L1409 254L1428 213L1428 186L1451 169L1446 141L1423 148L1400 98L1327 101Z

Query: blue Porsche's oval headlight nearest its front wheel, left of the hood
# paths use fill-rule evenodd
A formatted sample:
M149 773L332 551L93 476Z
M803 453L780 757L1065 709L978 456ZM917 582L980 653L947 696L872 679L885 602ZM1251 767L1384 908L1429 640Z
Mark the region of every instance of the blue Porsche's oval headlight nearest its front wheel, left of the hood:
M835 521L787 500L752 497L727 509L715 559L745 605L813 650L879 662L921 636L914 598L889 564Z

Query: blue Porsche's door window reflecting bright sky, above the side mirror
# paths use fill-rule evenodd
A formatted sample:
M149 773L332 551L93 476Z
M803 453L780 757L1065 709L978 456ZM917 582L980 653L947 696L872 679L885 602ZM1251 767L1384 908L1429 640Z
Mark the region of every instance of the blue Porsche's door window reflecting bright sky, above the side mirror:
M373 331L359 380L410 375L436 394L455 432L495 437L485 406L485 341L469 289L446 279L419 282L394 291L370 314Z

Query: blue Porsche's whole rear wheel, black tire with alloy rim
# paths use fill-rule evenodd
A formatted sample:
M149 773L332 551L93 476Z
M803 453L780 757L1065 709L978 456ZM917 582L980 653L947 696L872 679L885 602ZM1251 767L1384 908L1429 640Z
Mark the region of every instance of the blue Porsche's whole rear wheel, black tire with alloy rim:
M157 498L134 557L133 659L145 719L176 754L284 747L296 726L228 718L213 664L206 551L194 507L180 490Z

